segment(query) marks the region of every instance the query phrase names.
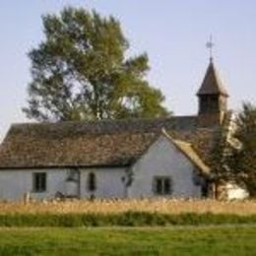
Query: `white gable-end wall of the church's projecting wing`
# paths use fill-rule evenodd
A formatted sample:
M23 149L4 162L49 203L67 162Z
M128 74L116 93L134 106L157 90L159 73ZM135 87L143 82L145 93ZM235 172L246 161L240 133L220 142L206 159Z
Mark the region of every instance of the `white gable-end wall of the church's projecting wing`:
M164 136L132 167L134 181L128 189L130 198L154 197L155 176L170 176L171 197L201 197L201 186L193 182L194 165Z

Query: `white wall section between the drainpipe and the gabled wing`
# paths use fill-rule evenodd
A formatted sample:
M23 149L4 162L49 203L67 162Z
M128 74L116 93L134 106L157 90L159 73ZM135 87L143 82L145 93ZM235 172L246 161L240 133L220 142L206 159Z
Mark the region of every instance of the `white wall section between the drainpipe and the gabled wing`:
M96 190L88 190L88 176L90 172L96 174ZM90 198L94 195L96 198L123 198L125 197L125 168L84 168L80 170L80 192L81 198Z

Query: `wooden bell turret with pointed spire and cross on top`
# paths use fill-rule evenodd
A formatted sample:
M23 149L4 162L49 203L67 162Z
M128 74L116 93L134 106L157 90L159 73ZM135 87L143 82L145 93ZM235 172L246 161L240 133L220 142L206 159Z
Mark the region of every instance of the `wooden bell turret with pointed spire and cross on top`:
M212 38L207 46L210 48L210 64L197 96L199 101L199 125L203 127L223 124L227 111L228 94L224 89L212 57Z

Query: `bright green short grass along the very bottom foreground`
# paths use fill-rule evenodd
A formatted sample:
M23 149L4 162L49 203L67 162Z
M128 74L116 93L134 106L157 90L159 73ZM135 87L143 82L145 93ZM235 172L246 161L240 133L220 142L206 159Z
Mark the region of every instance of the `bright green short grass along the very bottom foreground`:
M0 255L256 255L256 228L2 228Z

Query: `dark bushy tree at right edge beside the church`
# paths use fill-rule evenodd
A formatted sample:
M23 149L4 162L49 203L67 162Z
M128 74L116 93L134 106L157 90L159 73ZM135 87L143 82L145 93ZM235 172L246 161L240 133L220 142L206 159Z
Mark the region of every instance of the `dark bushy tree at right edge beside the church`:
M240 142L233 148L230 167L238 183L245 184L251 197L256 196L256 105L243 103L236 119L234 139Z

